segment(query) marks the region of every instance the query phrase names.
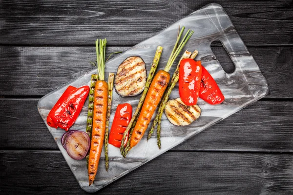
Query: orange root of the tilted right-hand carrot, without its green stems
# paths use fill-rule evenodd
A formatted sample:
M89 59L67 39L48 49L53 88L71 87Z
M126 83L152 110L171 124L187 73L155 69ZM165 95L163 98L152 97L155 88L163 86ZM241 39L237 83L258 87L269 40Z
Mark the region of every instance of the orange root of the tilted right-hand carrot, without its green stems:
M144 136L150 119L153 116L158 104L160 103L169 80L170 74L164 70L158 71L152 80L146 94L144 105L131 135L130 148L134 147Z

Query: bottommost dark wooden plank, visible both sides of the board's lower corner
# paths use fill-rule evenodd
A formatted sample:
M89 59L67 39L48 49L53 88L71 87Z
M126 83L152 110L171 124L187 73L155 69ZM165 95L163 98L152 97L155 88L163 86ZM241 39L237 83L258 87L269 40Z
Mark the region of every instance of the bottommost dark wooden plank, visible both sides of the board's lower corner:
M293 192L292 161L284 154L167 152L99 193L285 195ZM0 151L0 164L2 194L85 194L60 152Z

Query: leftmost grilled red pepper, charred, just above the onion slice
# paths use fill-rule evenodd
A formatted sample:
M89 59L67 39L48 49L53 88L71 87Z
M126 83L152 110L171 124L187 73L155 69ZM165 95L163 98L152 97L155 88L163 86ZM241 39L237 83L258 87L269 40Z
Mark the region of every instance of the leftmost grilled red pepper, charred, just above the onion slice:
M81 113L88 93L88 86L80 88L69 86L49 112L47 124L68 131Z

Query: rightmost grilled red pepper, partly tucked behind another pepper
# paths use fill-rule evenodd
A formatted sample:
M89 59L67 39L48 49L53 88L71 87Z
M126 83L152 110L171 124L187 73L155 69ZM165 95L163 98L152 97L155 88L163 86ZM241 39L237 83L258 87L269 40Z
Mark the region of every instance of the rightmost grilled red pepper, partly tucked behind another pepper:
M210 76L205 67L202 67L199 98L212 105L220 104L225 99L216 81Z

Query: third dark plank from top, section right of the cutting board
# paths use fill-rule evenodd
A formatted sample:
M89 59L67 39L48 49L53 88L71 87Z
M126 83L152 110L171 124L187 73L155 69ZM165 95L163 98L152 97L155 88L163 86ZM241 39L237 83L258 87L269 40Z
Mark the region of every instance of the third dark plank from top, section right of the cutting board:
M173 150L293 152L293 101L257 101Z

